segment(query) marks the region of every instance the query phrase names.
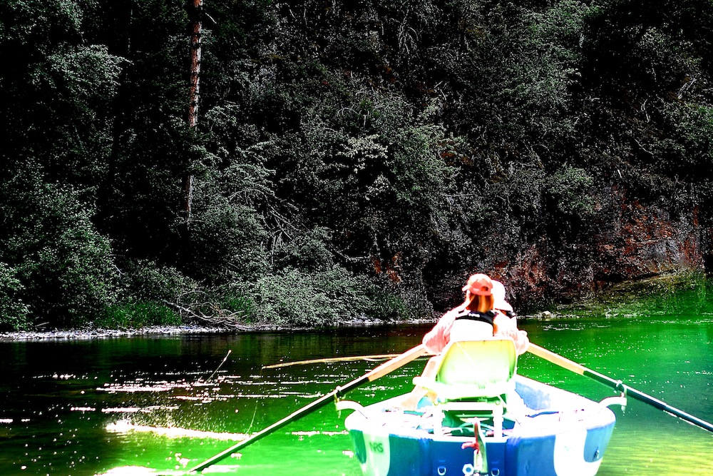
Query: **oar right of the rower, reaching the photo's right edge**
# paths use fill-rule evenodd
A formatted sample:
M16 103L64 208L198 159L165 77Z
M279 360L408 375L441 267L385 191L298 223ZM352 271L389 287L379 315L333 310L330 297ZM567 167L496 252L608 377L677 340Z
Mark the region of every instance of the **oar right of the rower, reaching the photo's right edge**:
M614 390L618 390L620 392L624 392L627 396L633 397L635 400L639 400L640 402L652 405L653 407L656 407L659 410L663 410L667 413L670 413L671 415L679 417L682 420L692 423L693 425L697 425L699 427L704 428L705 430L708 430L709 432L713 432L713 425L711 423L701 420L699 417L689 415L687 412L672 407L671 405L668 405L667 403L662 402L661 400L658 400L657 398L652 397L651 395L647 395L641 392L640 390L631 388L629 385L625 385L624 383L622 383L621 380L614 380L613 378L609 378L606 375L602 375L596 372L595 370L588 369L583 365L579 365L578 363L575 363L572 360L566 359L561 355L550 352L550 350L541 348L540 346L535 345L533 343L530 343L530 346L528 347L528 352L533 353L545 360L549 360L551 363L559 365L562 368L571 370L574 373L584 375L585 377L593 378L594 380L597 380L597 382L607 385L607 387L613 388Z

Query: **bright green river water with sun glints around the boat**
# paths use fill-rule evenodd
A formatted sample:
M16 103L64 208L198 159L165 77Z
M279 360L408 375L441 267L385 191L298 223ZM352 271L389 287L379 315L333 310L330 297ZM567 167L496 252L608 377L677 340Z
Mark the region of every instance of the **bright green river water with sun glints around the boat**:
M713 307L678 299L520 327L533 343L713 422ZM0 475L185 474L377 363L263 365L400 353L430 327L0 342ZM366 404L405 393L423 365L349 398ZM521 356L518 371L596 400L614 395L534 355ZM713 475L713 433L632 399L615 413L599 475ZM359 476L346 414L327 405L204 473Z

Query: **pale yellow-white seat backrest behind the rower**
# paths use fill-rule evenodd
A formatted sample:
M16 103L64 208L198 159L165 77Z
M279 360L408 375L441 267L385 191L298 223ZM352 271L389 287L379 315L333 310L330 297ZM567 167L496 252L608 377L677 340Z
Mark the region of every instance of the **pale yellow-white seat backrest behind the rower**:
M436 382L487 388L511 381L517 361L515 343L511 339L451 342L443 349Z

